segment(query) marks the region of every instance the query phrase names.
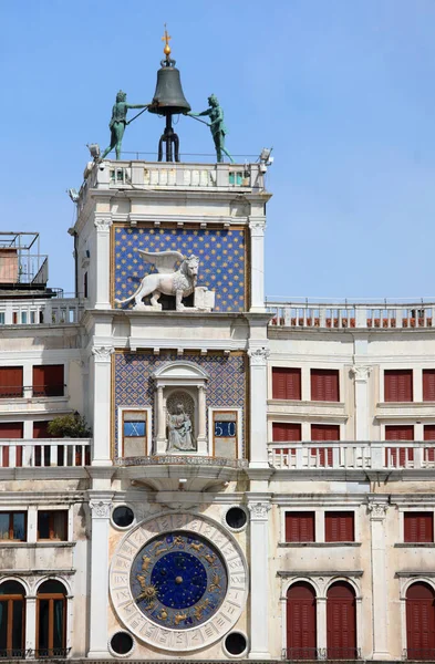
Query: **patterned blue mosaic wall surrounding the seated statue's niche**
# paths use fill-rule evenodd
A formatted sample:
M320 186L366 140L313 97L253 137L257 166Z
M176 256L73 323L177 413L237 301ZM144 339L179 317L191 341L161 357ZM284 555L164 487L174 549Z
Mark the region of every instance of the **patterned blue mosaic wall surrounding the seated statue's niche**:
M152 374L163 364L176 360L179 357L173 351L162 351L159 355L151 352L115 353L115 413L120 407L153 406L155 386ZM183 360L198 364L210 376L206 391L207 408L241 408L244 421L247 393L246 356L236 353L230 355L208 353L205 356L185 353ZM118 456L117 419L114 417L115 457ZM242 448L245 448L245 444Z

